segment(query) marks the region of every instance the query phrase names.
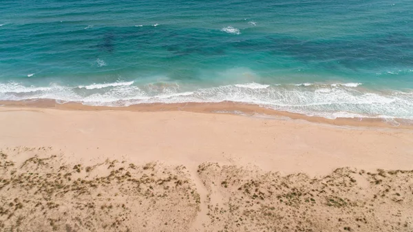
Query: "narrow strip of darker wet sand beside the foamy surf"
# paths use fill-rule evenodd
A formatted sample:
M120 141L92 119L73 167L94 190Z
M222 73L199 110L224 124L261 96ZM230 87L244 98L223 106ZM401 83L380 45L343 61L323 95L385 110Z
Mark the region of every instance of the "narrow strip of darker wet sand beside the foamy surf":
M293 112L269 109L260 105L237 102L221 103L142 103L126 107L108 107L83 105L82 103L56 103L53 99L33 101L0 101L0 107L34 107L78 111L129 111L129 112L195 112L204 114L233 114L240 116L262 116L277 120L306 120L309 123L321 123L335 126L384 127L413 129L413 120L404 118L324 118L307 116Z

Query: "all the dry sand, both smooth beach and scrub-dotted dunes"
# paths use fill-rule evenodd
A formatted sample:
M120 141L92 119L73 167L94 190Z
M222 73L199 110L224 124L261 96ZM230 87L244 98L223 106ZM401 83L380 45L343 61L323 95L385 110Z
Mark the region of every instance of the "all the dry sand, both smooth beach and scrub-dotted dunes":
M413 231L413 131L360 125L0 107L0 231Z

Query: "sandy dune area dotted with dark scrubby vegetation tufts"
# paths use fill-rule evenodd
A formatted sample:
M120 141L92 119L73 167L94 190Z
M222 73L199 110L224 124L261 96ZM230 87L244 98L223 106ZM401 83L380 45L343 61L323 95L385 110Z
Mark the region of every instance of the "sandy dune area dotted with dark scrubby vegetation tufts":
M413 229L413 171L310 178L211 162L197 173L127 160L85 167L50 148L15 147L1 151L0 179L4 231Z

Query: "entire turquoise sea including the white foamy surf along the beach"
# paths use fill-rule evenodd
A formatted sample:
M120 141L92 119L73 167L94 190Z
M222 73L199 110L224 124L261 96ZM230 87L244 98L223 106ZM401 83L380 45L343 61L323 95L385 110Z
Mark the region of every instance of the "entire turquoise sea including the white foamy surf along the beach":
M1 1L0 100L413 118L413 1Z

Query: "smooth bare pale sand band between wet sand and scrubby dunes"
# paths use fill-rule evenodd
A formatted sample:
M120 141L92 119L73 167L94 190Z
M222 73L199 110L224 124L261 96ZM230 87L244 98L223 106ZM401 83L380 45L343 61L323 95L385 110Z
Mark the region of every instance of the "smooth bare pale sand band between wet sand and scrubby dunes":
M54 147L83 162L85 154L95 161L124 154L136 163L219 162L310 175L339 167L413 169L410 128L213 114L204 105L196 111L61 106L0 107L0 147Z

